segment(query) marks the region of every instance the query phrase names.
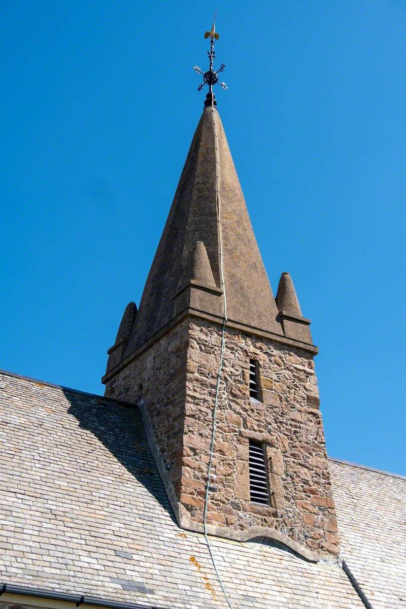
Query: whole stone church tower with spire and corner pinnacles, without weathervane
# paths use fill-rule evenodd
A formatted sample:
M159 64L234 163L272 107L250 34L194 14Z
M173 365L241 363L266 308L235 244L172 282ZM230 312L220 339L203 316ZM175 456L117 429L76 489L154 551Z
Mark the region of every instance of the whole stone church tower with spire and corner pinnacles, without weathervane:
M203 110L105 395L139 404L184 529L337 555L310 320L276 299L214 105Z

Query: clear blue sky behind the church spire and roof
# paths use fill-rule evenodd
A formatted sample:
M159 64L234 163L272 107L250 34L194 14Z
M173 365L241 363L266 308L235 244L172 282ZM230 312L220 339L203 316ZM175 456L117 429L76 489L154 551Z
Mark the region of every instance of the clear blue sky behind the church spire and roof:
M406 474L404 0L216 0L219 110L331 456ZM3 1L0 367L102 393L200 117L215 5Z

